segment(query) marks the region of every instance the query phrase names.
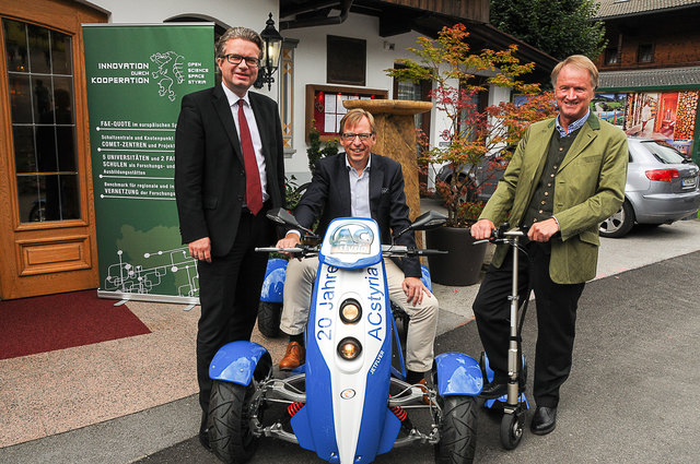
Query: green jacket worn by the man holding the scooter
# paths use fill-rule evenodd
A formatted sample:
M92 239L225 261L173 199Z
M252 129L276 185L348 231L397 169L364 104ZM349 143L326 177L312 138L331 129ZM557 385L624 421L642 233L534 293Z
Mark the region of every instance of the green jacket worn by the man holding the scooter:
M506 221L521 224L555 130L555 119L527 129L479 219L491 219L497 227ZM578 284L595 277L598 225L625 200L628 156L625 133L591 114L555 177L553 215L560 235L551 239L549 275L553 282ZM503 264L506 252L506 245L498 246L494 266Z

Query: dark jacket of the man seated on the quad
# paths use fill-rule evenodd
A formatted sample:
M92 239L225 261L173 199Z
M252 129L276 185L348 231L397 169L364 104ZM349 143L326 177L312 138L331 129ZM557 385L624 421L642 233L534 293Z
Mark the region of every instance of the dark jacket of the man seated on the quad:
M404 174L401 165L394 159L374 153L371 156L370 211L380 226L382 243L388 245L392 243L392 233L410 225ZM308 228L318 217L317 233L323 237L332 219L351 216L348 176L345 153L319 159L314 178L294 210L296 221ZM396 239L396 243L415 247L416 239L412 233L406 233ZM407 277L421 276L418 258L404 259L400 266Z

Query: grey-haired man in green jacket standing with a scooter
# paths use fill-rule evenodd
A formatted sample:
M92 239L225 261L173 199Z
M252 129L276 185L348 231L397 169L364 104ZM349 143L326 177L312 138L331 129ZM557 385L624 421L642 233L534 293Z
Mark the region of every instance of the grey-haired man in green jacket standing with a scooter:
M586 281L595 277L598 225L625 200L627 138L590 111L598 71L574 55L551 73L559 115L529 127L503 179L471 227L488 238L501 223L527 228L528 258L520 260L521 301L528 286L537 302L534 396L530 430L552 431L559 389L571 371L576 306ZM481 396L506 392L513 251L500 245L474 302L479 336L493 382Z

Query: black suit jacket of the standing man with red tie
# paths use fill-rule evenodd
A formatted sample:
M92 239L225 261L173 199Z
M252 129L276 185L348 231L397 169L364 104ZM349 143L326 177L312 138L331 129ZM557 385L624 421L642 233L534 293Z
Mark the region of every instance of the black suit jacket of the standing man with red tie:
M248 93L262 142L271 207L284 205L284 154L277 103ZM212 255L236 237L245 167L229 100L221 85L183 97L175 131L175 198L183 243L209 237Z

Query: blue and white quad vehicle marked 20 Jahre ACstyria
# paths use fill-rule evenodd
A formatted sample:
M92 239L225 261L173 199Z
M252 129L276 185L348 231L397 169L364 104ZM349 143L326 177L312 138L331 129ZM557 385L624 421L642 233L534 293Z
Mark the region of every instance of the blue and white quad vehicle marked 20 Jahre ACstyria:
M268 217L310 234L284 210ZM444 221L429 212L397 236ZM444 353L435 357L427 389L405 382L383 258L430 250L383 246L374 221L349 217L334 221L320 246L259 251L318 255L306 364L276 378L270 354L256 343L233 342L217 353L209 369L209 442L220 460L246 462L265 436L299 443L330 463L371 463L416 442L433 444L435 462L472 462L479 364ZM278 417L264 415L275 406ZM412 425L415 414L428 418L424 430Z

